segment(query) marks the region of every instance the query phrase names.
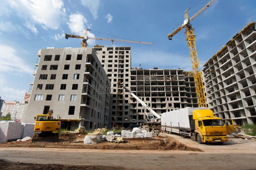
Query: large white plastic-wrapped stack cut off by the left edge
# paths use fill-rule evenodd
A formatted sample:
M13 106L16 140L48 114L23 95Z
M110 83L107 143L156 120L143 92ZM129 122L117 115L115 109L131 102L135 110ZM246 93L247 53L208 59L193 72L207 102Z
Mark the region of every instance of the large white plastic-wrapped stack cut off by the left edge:
M20 138L20 122L0 122L0 143Z

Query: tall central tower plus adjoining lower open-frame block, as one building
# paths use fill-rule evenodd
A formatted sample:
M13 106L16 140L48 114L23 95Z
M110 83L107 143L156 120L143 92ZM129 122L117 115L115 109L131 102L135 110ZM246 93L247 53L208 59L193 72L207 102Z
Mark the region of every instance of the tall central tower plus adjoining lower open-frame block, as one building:
M131 69L131 47L95 46L93 49L111 81L111 123L129 127L146 122L143 107L117 85L118 81L160 115L174 109L198 106L195 82L190 72Z

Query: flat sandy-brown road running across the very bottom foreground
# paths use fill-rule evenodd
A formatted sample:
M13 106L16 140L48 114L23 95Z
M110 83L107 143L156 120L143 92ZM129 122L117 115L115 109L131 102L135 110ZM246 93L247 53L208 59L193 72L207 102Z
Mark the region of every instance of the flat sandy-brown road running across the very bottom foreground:
M59 148L0 148L14 162L123 166L127 169L255 169L256 154L190 151L118 151Z

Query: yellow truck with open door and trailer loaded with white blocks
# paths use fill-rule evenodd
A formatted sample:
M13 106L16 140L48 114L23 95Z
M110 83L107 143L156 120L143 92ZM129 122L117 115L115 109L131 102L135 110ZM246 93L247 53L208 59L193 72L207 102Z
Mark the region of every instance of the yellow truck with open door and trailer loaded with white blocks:
M227 132L235 130L232 120L226 120L224 124L221 118L205 107L186 107L163 113L161 126L167 133L190 137L199 144L228 142Z

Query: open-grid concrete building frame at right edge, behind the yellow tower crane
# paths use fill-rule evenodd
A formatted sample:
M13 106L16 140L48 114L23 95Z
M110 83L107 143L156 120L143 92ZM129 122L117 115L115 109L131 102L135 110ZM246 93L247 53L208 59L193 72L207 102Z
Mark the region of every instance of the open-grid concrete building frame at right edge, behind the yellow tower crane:
M256 29L248 23L207 63L203 79L208 106L236 124L256 123Z

